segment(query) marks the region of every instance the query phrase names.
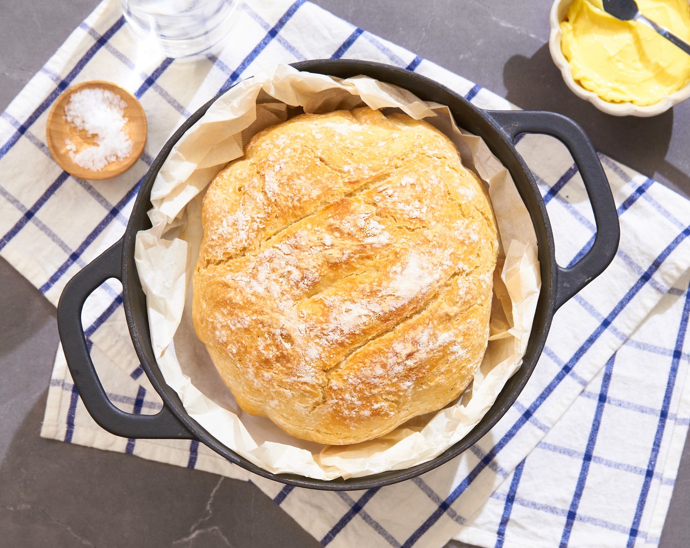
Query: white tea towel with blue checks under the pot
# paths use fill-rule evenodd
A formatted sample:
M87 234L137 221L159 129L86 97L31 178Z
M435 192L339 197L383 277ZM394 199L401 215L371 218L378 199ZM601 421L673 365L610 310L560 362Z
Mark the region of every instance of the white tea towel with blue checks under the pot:
M106 0L0 116L0 254L57 303L70 276L121 237L141 176L190 112L259 68L323 57L391 63L482 108L511 108L303 0L242 4L224 52L193 63L138 50L118 2ZM50 105L92 79L134 92L149 123L141 160L100 182L63 172L45 140ZM546 136L525 136L517 148L544 194L558 261L577 261L595 227L571 157ZM251 479L324 546L426 548L453 537L486 547L593 539L599 547L654 545L690 416L690 204L600 159L620 216L615 260L555 315L535 373L506 416L469 451L423 476L368 491L306 491L249 474L195 441L117 438L91 420L61 352L41 435ZM115 281L90 296L88 345L112 401L152 414L161 403L132 350L121 303Z

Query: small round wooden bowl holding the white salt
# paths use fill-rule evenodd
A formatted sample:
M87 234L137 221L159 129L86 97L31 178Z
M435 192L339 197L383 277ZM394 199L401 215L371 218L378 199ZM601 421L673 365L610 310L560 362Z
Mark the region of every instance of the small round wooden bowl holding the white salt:
M111 91L119 95L119 97L127 103L124 110L124 117L127 119L124 130L128 133L132 141L132 152L126 159L111 162L99 171L82 168L81 165L72 161L65 142L66 139L70 139L72 144L77 147L77 151L95 143L94 135L90 137L86 136L86 130L77 130L77 128L65 119L65 107L70 102L72 93L86 88L101 88ZM63 170L81 179L100 180L115 177L132 167L144 150L146 129L146 114L136 97L112 82L92 80L79 83L69 88L57 98L55 103L53 103L48 113L46 138L48 140L50 154L52 154L53 159L55 159Z

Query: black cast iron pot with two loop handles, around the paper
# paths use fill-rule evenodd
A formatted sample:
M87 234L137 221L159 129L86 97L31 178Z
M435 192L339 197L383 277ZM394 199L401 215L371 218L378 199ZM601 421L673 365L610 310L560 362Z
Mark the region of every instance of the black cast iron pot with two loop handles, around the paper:
M487 112L431 79L381 63L351 59L324 59L303 61L293 66L298 70L329 74L340 78L366 74L377 80L406 88L426 101L448 105L457 125L481 136L489 145L491 152L500 159L513 176L537 234L542 290L522 366L506 383L480 423L462 440L427 463L363 478L324 481L295 474L271 474L221 444L187 414L177 393L166 384L153 354L146 314L146 296L141 289L134 261L135 236L139 230L150 227L146 212L151 207L151 187L172 146L204 115L217 98L212 99L190 116L158 154L141 184L141 190L139 190L124 236L95 261L83 268L66 285L57 309L57 322L70 373L79 390L79 396L94 420L108 432L125 438L199 440L231 462L259 476L299 487L333 491L370 489L423 474L459 455L489 432L489 429L513 405L529 379L544 347L553 314L563 303L601 274L613 260L620 236L618 216L609 183L591 142L580 126L565 116L553 112ZM544 201L529 168L513 146L515 136L524 132L553 135L565 143L582 174L582 180L591 201L597 234L589 252L569 268L564 268L555 261L553 234ZM141 360L141 367L144 368L151 384L164 401L163 409L156 415L129 414L112 405L89 356L81 325L81 309L88 295L108 278L118 278L122 282L124 309L132 343Z

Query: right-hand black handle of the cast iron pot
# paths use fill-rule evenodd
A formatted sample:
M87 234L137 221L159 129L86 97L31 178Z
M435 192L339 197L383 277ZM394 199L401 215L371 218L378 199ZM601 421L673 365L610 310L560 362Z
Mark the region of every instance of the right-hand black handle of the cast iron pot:
M582 175L594 213L597 232L588 252L571 267L558 268L554 310L599 276L613 261L620 240L618 212L609 180L594 147L582 128L555 112L491 110L488 114L511 139L521 133L543 133L559 139L570 151Z

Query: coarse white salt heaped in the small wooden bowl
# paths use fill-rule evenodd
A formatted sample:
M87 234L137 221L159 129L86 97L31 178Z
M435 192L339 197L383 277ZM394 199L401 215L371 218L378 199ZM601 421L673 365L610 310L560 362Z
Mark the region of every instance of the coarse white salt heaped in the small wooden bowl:
M86 88L72 94L65 107L65 119L77 130L95 135L95 145L77 152L70 139L65 145L73 162L87 170L100 171L111 162L123 161L132 152L124 126L127 103L119 95L103 88Z

